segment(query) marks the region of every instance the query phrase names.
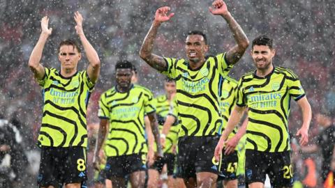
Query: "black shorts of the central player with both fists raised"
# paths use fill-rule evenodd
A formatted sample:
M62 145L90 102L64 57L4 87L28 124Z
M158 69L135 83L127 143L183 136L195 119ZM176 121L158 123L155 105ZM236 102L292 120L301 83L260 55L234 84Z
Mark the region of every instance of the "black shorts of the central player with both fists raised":
M196 178L196 173L219 174L221 162L215 162L214 150L219 136L184 136L179 138L177 155L177 177Z

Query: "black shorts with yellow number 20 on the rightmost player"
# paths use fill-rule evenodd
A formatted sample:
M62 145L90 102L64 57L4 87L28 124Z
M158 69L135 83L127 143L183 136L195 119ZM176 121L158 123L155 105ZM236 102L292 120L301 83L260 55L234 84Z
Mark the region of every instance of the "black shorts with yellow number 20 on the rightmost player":
M293 171L290 151L260 152L246 150L246 183L265 182L266 174L272 187L292 187Z

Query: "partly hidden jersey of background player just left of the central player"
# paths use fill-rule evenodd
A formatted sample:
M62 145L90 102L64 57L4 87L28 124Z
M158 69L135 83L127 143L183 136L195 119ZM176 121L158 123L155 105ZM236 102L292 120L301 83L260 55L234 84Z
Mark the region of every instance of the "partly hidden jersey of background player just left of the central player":
M160 95L155 98L155 102L156 102L157 115L162 116L165 119L168 115L172 115L174 116L174 118L176 118L176 123L174 123L171 126L169 133L166 135L165 148L163 148L164 153L174 153L174 146L177 145L177 140L178 140L179 127L177 126L178 125L177 116L175 116L173 113L173 108L174 108L173 99L172 101L169 102L168 97L166 97L166 95ZM162 123L159 124L159 130L161 132L163 130Z

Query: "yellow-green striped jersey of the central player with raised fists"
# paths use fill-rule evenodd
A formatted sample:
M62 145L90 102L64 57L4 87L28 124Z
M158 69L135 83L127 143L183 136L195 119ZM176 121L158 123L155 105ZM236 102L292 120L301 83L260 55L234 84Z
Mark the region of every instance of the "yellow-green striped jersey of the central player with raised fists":
M225 54L207 58L197 70L191 70L184 58L164 58L167 69L163 74L174 79L181 120L180 136L209 136L219 134L222 126L219 86L232 65Z

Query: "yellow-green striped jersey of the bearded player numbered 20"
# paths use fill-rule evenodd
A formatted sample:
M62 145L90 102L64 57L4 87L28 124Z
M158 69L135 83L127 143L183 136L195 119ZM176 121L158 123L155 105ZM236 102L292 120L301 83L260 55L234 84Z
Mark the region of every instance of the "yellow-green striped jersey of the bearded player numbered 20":
M290 100L305 96L292 70L275 67L266 77L255 71L239 80L237 105L248 106L246 149L265 152L290 150L288 115Z

